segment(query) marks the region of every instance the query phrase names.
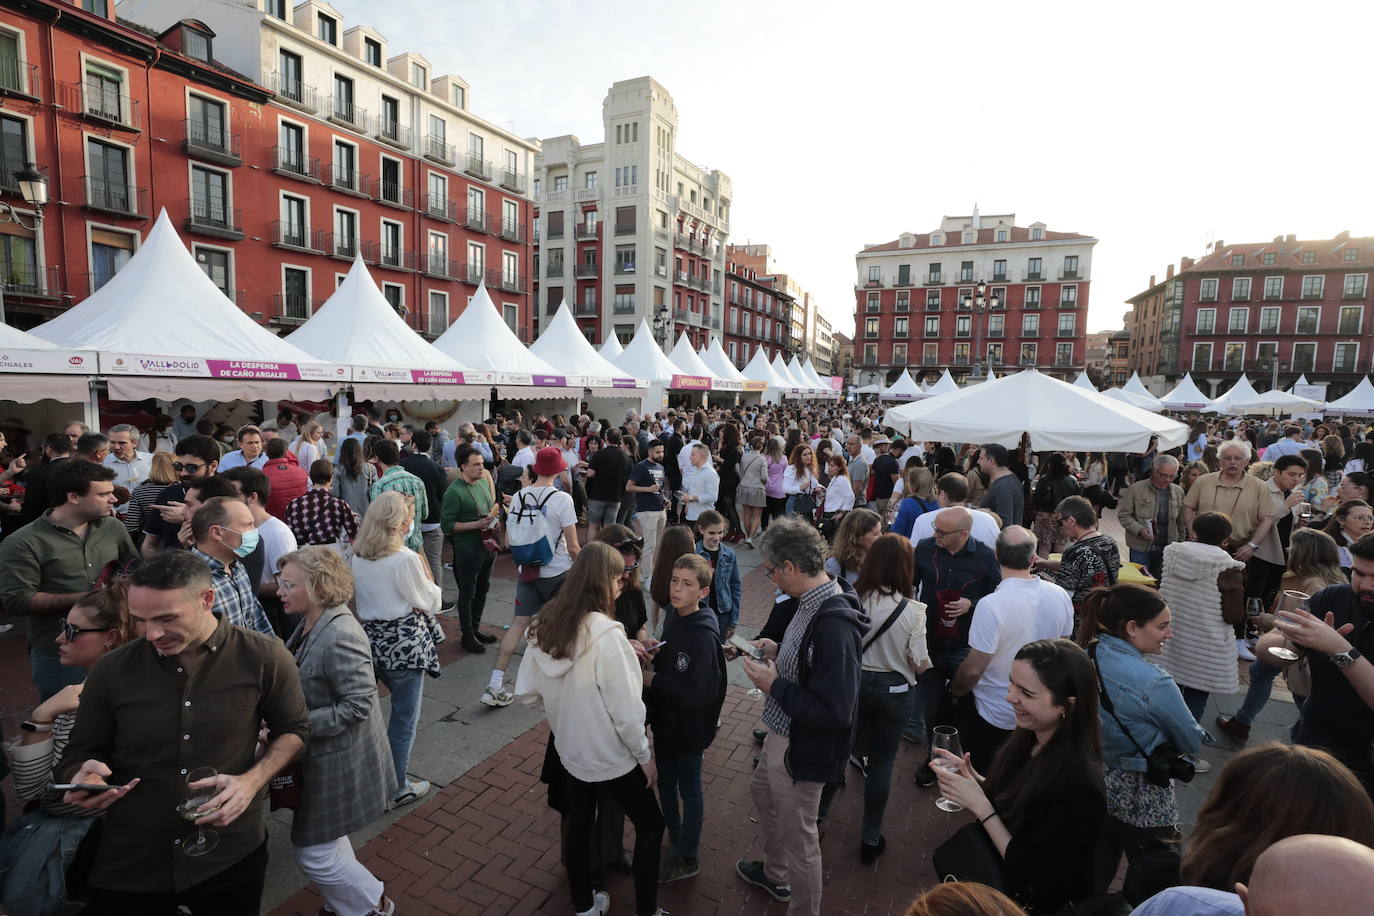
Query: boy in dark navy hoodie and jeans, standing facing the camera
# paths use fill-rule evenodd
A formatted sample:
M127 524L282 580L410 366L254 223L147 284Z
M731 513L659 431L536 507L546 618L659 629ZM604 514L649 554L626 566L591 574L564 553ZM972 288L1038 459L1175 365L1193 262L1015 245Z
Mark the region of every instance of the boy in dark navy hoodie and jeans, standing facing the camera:
M719 515L716 527L719 542L725 529ZM672 840L672 850L658 869L661 883L691 878L701 871L697 858L705 820L701 761L716 737L720 707L725 702L725 654L720 648L716 615L705 603L710 591L706 560L684 553L673 563L671 595L676 612L664 622L664 643L644 673L658 762L658 798Z

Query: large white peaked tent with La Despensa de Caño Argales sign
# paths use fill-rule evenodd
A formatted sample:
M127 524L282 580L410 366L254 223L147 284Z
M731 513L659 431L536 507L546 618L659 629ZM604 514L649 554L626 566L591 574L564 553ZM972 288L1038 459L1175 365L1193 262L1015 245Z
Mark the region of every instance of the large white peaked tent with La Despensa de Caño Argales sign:
M320 398L349 380L346 367L317 363L231 302L166 210L109 283L33 334L98 350L110 397L121 401Z

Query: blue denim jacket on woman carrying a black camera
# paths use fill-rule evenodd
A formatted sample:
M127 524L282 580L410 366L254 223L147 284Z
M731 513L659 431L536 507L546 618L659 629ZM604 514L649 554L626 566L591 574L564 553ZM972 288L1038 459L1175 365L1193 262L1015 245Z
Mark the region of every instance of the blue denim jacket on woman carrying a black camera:
M1183 754L1202 746L1202 726L1183 703L1178 684L1162 667L1150 662L1123 639L1101 636L1096 644L1098 672L1112 707L1131 737L1149 754L1165 740ZM1143 773L1145 758L1106 709L1098 710L1102 724L1102 762L1118 770Z

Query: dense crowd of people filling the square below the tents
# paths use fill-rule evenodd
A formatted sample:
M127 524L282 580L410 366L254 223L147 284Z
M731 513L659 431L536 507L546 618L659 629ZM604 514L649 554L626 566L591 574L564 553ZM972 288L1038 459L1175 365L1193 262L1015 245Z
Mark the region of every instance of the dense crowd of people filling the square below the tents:
M971 817L932 851L955 883L910 913L1276 913L1297 884L1275 875L1371 883L1374 433L1197 420L1102 455L912 441L875 405L404 417L360 405L338 441L328 416L234 430L194 405L147 431L0 427L0 612L38 696L8 755L7 904L257 912L271 805L326 912L392 913L348 835L430 791L409 758L442 615L495 654L474 699L547 713L580 916L610 868L640 916L701 872L736 659L763 699L763 858L735 871L789 912L823 912L856 773L878 867L903 740ZM771 592L752 639L745 551ZM1208 721L1241 665L1243 702ZM1238 754L1182 836L1176 783L1217 735L1249 740L1279 676L1292 743ZM49 854L78 847L71 872Z

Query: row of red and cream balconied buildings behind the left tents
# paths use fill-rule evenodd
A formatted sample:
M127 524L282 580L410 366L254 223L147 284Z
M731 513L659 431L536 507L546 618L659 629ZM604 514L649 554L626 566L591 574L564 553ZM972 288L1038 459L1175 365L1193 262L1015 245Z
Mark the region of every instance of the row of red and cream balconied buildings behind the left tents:
M345 29L327 4L207 0L196 19L184 12L174 0L124 0L118 19L0 3L15 43L0 37L0 58L21 62L0 69L38 89L5 106L26 124L4 125L3 170L21 154L47 170L32 264L60 294L7 295L22 327L99 288L165 209L214 283L280 332L363 257L422 334L441 334L485 280L529 338L532 144L467 113L464 82L430 80L418 55L387 56L379 33ZM464 157L431 143L442 129L463 137Z

